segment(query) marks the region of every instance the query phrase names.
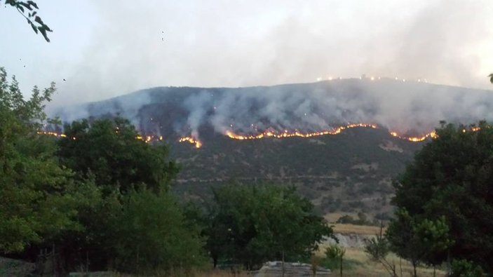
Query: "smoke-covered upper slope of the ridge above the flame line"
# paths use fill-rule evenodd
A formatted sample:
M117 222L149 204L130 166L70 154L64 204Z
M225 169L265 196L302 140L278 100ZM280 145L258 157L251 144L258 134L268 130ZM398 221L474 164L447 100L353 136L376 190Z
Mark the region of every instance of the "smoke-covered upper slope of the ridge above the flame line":
M336 79L248 88L173 88L66 107L66 121L107 114L125 116L142 133L201 137L201 130L258 134L302 133L372 123L402 135L424 135L438 122L493 120L493 91L395 79Z

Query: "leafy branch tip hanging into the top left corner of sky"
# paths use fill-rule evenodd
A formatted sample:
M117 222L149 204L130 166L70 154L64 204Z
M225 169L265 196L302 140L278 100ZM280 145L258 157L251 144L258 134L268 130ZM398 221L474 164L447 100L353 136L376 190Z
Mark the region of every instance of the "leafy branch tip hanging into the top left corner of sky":
M0 1L1 4L1 1ZM33 31L43 35L43 38L50 42L47 32L53 32L48 25L37 15L38 5L34 1L18 1L18 0L5 0L5 4L12 6L27 20L27 23L31 26Z

